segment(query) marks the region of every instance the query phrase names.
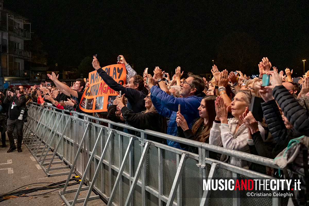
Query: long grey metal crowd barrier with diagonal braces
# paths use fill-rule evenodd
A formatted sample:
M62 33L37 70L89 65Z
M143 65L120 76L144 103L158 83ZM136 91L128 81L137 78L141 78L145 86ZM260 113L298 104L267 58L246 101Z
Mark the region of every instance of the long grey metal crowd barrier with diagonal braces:
M30 104L23 140L48 176L68 175L59 192L67 206L78 202L86 205L100 197L108 206L287 204L287 198L245 198L247 191L203 191L203 179L207 178L272 178L211 159L208 151L276 168L272 159L68 112ZM115 126L141 132L141 136L115 130ZM147 135L197 147L198 154L149 141ZM51 167L63 162L66 166ZM70 171L63 172L69 167ZM53 170L62 172L52 173ZM78 188L69 189L73 173L81 177L81 183ZM81 190L88 190L87 196L78 199ZM97 195L90 196L91 191ZM74 200L66 199L69 192L75 192Z

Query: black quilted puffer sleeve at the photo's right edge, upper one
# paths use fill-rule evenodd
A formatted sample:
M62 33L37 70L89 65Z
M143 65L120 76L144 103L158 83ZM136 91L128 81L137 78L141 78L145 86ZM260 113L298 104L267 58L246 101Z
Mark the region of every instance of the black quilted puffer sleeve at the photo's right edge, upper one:
M309 136L309 113L282 85L275 86L273 97L281 107L286 118L300 135Z

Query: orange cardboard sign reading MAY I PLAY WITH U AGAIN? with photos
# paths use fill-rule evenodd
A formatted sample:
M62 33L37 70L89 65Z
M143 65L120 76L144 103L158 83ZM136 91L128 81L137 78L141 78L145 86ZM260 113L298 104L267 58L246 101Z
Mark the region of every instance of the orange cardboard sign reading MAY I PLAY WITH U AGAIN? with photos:
M116 82L124 85L127 73L124 64L113 64L102 69ZM89 87L84 91L79 108L85 112L107 111L116 96L116 91L103 81L97 71L93 71L89 73Z

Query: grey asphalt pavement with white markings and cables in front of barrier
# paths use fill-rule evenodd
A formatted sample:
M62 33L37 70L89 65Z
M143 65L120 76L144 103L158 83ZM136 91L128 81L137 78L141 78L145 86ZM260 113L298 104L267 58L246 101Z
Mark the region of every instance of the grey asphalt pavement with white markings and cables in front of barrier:
M23 144L22 150L23 152L18 153L17 150L7 153L6 151L9 149L9 141L6 137L6 147L0 147L0 194L4 194L15 190L19 187L23 187L32 183L56 183L67 179L67 175L55 176L55 177L47 177L42 168L38 165L36 160L33 158L30 151ZM58 165L60 166L60 165ZM70 171L70 169L67 169ZM40 184L38 184L40 185ZM47 184L44 184L47 185ZM26 189L27 186L23 187ZM36 186L37 187L37 186ZM78 185L70 186L68 189L76 188ZM32 188L32 187L29 187ZM31 194L27 194L28 196L42 194L45 192L49 192L52 190L44 190L38 191ZM10 200L5 200L0 202L1 206L61 206L64 205L62 202L58 191L62 191L62 189L58 189L56 191L37 195L31 197L19 197L13 198ZM87 194L86 191L81 191L78 198L85 197ZM73 200L75 193L66 194L67 200ZM94 195L92 192L91 196ZM77 203L76 206L80 206L83 203ZM100 199L91 200L87 205L106 205Z

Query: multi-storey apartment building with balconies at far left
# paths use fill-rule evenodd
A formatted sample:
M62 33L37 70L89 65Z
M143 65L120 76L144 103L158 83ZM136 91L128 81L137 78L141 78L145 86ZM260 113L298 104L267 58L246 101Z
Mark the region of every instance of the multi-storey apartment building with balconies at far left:
M26 82L31 71L24 61L31 60L31 52L24 50L24 41L31 40L31 23L25 17L3 8L0 0L0 89L4 82Z

